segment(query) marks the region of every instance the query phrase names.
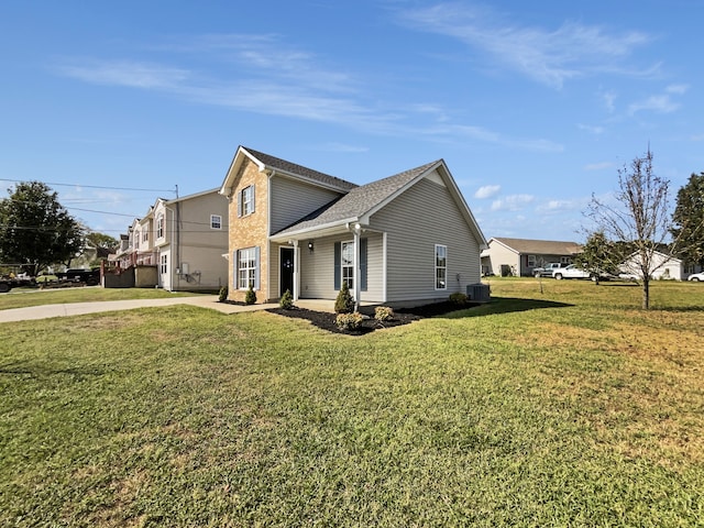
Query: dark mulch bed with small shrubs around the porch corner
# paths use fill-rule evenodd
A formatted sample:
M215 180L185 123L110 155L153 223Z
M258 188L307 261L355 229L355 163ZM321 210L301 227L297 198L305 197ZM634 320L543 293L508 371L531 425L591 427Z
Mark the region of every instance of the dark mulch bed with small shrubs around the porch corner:
M365 319L362 324L355 330L342 330L336 324L336 314L330 314L327 311L316 311L308 310L306 308L293 308L290 310L285 310L283 308L271 308L266 311L271 314L278 314L279 316L285 317L294 317L297 319L305 319L310 321L318 328L322 330L327 330L329 332L334 333L344 333L346 336L364 336L366 333L373 332L374 330L381 330L383 328L393 328L402 324L408 324L413 321L417 321L419 319L425 319L428 317L442 316L450 311L455 311L459 309L470 308L474 305L465 305L463 307L458 307L454 302L435 302L432 305L418 306L415 308L399 308L398 310L394 310L394 318L389 321L380 322L374 319L374 307L373 306L364 306L360 308L360 314L364 316L369 316L369 319Z

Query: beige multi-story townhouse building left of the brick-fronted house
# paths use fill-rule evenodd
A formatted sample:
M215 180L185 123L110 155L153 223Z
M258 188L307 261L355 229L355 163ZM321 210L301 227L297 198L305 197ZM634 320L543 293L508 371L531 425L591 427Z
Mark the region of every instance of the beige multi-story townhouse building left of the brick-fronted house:
M228 200L219 189L158 198L135 219L110 261L106 287L154 287L169 292L218 290L227 285ZM125 273L130 277L123 277Z

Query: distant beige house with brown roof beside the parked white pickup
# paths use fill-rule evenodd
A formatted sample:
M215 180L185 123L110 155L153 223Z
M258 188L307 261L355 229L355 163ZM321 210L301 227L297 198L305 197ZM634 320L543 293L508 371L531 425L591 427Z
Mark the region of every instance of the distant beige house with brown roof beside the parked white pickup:
M536 267L551 262L572 263L581 251L576 242L492 238L482 252L482 274L531 276Z

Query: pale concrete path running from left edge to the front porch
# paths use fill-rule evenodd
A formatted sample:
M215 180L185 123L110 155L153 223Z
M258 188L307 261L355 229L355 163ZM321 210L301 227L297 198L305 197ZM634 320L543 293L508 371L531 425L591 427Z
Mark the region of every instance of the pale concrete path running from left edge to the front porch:
M52 317L82 316L100 311L133 310L135 308L148 308L158 306L191 305L201 308L210 308L222 314L238 314L241 311L265 310L276 308L278 305L251 305L240 306L218 301L217 295L199 295L197 297L174 297L172 299L130 299L108 300L97 302L72 302L64 305L42 305L26 308L13 308L0 310L0 322L29 321L48 319Z

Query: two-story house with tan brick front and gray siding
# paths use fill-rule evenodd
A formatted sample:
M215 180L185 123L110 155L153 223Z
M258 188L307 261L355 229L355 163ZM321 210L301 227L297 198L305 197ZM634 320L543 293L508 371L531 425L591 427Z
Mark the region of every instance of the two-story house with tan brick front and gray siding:
M482 231L442 160L358 186L240 146L230 200L229 299L447 300L481 282ZM470 288L471 289L471 288Z

